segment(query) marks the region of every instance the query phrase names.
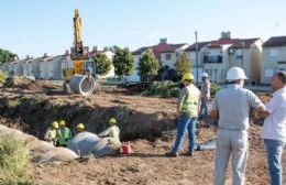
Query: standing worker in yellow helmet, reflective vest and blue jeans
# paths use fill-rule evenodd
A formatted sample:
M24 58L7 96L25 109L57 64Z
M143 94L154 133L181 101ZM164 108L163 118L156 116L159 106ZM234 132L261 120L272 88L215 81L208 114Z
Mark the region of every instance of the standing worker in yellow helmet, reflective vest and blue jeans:
M184 88L180 91L177 101L178 129L175 145L167 156L178 156L178 151L184 142L185 130L188 130L189 148L187 155L193 156L196 143L196 122L200 107L200 91L193 84L194 76L186 73L183 76Z

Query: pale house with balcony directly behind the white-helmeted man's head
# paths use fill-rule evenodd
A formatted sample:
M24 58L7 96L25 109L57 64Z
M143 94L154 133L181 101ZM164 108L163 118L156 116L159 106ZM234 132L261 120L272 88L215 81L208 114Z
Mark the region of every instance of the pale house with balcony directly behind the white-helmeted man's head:
M196 43L186 48L193 62L193 73L200 83L200 74L207 72L213 83L224 83L227 72L233 66L244 68L250 81L260 83L262 40L232 39L230 32L222 32L215 41L198 42L198 65Z

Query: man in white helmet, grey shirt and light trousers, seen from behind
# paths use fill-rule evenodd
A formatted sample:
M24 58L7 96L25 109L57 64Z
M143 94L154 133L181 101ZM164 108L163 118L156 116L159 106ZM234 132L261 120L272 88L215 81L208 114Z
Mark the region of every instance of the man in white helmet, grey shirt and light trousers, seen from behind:
M248 78L241 67L230 68L227 73L227 88L219 90L212 102L210 116L219 118L215 162L216 185L224 184L230 155L232 155L232 184L244 184L250 110L265 109L256 95L243 88L245 79Z

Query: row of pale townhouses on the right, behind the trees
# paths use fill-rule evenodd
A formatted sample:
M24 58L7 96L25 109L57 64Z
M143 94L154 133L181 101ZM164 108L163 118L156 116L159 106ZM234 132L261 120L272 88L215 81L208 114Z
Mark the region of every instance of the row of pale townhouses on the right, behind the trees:
M198 42L198 64L195 44L168 44L162 39L157 45L140 47L132 54L135 68L147 48L152 48L162 67L172 69L175 62L186 52L193 63L195 78L200 81L200 74L207 72L210 80L224 83L227 70L233 66L244 68L251 84L270 84L276 70L286 70L286 36L271 37L266 42L260 37L232 39L230 32L222 32L215 41ZM198 78L197 78L198 77ZM129 80L140 80L135 70Z

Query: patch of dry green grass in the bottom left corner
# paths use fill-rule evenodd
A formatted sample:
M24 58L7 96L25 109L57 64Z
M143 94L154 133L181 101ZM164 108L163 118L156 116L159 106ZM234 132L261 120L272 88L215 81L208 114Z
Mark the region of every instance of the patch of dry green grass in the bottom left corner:
M34 184L29 171L31 164L28 145L9 134L0 138L0 184L30 185Z

